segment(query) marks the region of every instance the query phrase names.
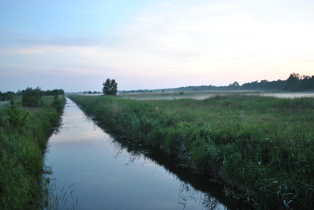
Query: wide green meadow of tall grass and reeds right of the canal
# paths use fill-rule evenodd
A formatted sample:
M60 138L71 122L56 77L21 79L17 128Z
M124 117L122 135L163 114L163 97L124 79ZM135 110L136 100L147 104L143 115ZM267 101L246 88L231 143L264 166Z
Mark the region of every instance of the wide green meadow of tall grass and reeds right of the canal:
M178 156L258 209L314 208L314 98L70 95L107 126Z

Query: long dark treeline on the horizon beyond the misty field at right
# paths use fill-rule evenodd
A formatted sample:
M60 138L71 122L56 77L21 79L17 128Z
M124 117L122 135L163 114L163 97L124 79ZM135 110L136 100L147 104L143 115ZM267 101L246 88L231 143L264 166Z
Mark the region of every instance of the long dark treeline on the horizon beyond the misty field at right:
M284 90L284 91L309 91L314 90L314 75L300 76L292 73L286 80L278 79L277 81L261 80L260 82L253 81L239 85L234 82L227 86L201 85L201 86L186 86L179 88L155 89L155 90L128 90L121 91L122 93L147 93L147 92L180 92L180 91L223 91L223 90Z

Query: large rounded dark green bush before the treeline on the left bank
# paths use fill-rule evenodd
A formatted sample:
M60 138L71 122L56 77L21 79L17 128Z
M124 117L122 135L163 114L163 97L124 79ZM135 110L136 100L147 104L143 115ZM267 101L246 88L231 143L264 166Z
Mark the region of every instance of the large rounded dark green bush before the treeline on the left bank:
M41 100L41 97L43 96L43 93L38 90L27 90L22 95L22 105L27 107L39 107L43 105L43 101Z

